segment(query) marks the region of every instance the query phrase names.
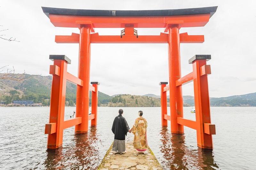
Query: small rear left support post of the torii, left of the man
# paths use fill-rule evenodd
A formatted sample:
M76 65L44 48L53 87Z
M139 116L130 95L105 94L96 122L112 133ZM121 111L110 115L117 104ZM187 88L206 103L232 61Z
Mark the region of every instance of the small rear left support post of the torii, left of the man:
M98 121L98 85L99 82L91 82L92 86L95 88L95 91L92 91L92 115L94 119L91 120L91 126L96 126Z

